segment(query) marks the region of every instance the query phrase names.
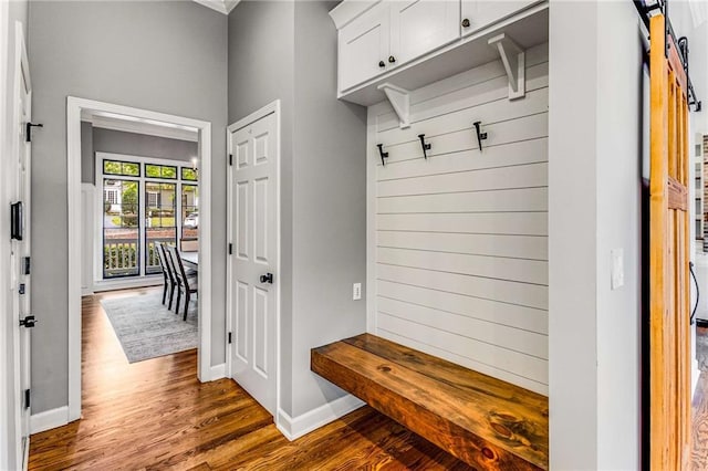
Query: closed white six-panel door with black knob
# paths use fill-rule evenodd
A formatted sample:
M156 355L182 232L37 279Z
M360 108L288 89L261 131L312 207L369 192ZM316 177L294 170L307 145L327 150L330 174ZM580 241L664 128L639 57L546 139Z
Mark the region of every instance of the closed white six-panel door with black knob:
M230 134L231 377L275 412L278 116Z

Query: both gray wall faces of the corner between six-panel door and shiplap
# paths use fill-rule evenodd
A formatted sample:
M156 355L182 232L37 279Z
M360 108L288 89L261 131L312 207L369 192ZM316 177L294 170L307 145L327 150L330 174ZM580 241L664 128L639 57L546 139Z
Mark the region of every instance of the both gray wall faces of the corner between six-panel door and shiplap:
M282 100L281 407L344 393L310 348L366 329L366 109L336 100L336 2L242 1L229 15L229 123ZM293 86L294 84L294 86Z

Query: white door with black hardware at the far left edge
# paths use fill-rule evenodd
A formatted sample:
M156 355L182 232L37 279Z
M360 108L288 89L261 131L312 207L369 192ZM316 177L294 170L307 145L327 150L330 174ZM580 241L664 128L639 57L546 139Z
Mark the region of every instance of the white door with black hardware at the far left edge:
M27 123L31 122L31 92L27 56L22 57L18 71L17 90L15 146L17 155L13 164L15 174L15 191L13 202L21 202L19 231L11 243L11 292L12 318L15 329L15 423L20 432L19 453L27 468L30 442L30 327L34 326L30 302L30 208L31 208L31 143L25 138ZM21 325L22 324L22 325Z

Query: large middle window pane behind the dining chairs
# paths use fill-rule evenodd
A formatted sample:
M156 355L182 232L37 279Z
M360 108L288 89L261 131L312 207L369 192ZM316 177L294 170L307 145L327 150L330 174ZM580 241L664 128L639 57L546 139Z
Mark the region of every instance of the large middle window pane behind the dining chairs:
M145 182L145 274L159 273L155 242L174 245L177 241L175 184Z

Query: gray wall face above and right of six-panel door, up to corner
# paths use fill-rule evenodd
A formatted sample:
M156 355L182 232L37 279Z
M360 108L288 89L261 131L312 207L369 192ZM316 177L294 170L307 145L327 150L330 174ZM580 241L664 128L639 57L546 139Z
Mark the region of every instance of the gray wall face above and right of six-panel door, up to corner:
M294 87L294 4L241 1L229 14L229 124L274 100L281 101L281 363L292 352L292 135ZM288 333L288 335L285 335ZM281 404L290 410L292 376L281 369Z

